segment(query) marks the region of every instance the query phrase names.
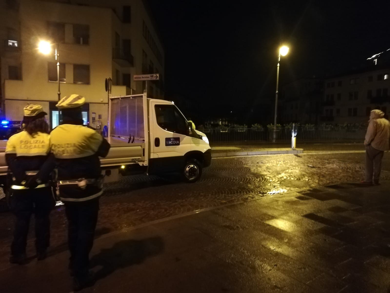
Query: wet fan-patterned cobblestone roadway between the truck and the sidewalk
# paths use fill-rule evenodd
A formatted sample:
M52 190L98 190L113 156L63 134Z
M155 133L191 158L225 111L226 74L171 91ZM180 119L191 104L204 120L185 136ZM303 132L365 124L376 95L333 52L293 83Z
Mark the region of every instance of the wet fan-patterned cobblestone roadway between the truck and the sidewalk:
M268 155L213 159L195 184L174 177L124 177L107 184L101 198L97 236L168 216L227 203L267 198L275 193L302 190L362 179L364 154ZM383 165L390 166L388 154ZM388 169L390 171L390 168ZM384 170L382 179L390 179ZM66 219L62 207L51 214L51 249L66 250ZM8 266L13 218L0 214L0 266ZM32 221L34 222L34 221ZM30 229L30 235L33 229ZM28 255L33 256L32 239Z

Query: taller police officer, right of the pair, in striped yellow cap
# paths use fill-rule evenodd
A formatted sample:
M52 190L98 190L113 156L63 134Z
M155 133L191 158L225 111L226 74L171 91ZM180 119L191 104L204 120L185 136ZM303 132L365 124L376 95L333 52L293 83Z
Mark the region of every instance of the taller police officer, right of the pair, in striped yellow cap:
M83 125L84 103L85 98L80 95L62 98L57 104L62 123L50 133L59 195L65 204L69 225L69 269L74 276L74 290L93 284L89 252L94 240L99 196L103 193L99 157L105 157L110 149L101 135Z

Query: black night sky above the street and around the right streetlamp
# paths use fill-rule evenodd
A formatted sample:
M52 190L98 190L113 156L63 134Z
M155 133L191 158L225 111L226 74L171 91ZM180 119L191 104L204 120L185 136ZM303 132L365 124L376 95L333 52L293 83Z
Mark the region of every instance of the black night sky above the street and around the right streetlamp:
M166 98L179 93L196 116L273 102L281 43L290 46L281 84L356 67L390 48L390 1L149 3L165 46Z

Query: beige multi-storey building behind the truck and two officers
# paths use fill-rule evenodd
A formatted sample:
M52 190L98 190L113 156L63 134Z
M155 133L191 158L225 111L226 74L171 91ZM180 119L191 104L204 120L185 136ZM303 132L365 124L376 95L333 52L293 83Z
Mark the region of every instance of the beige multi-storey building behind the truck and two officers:
M160 73L160 81L149 83L148 94L162 98L164 50L142 0L0 4L10 18L0 20L4 118L20 120L27 103L39 103L49 113L51 127L58 124L57 63L54 50L48 55L37 50L40 40L53 43L53 49L57 44L61 96L85 96L83 118L92 127L107 124L108 77L116 96L143 92L145 84L134 82L133 75Z

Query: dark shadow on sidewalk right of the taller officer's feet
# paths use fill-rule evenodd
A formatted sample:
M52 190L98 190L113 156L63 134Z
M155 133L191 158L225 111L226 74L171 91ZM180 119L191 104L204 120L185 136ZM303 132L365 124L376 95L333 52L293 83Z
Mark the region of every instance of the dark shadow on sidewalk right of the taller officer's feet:
M96 280L104 279L119 268L140 264L147 257L160 254L164 246L161 237L119 241L111 248L102 249L94 255L90 261L90 268L101 266L95 273L95 278Z

